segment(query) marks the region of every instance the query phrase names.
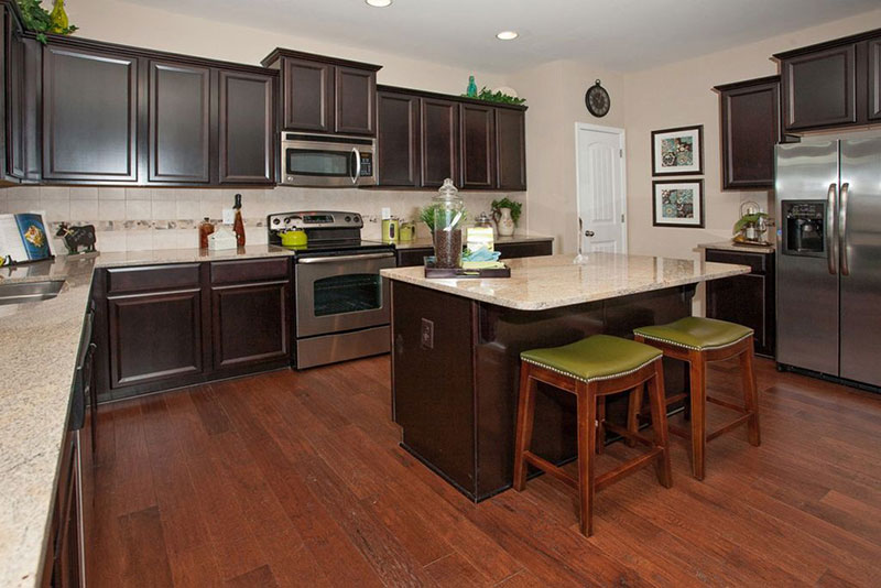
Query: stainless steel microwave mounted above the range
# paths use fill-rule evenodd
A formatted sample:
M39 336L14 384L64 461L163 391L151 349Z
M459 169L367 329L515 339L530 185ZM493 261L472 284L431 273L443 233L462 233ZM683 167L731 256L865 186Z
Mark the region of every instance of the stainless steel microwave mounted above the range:
M282 133L282 184L287 186L372 186L376 140Z

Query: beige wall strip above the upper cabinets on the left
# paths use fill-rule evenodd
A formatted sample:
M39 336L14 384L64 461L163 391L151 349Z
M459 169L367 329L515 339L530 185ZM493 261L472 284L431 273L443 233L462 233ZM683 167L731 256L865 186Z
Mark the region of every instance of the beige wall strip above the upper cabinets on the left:
M51 2L50 2L51 3ZM468 76L479 86L501 85L502 76L465 67L417 61L405 55L347 46L336 39L283 35L248 26L173 14L119 0L76 0L65 4L77 36L99 39L187 55L259 64L275 47L382 65L380 84L422 88L447 94L465 91Z

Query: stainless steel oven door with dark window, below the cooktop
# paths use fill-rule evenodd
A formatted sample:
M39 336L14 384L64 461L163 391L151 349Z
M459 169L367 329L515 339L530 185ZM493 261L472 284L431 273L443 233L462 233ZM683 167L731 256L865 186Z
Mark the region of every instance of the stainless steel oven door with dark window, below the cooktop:
M296 336L388 325L389 284L379 271L394 266L393 251L298 259Z

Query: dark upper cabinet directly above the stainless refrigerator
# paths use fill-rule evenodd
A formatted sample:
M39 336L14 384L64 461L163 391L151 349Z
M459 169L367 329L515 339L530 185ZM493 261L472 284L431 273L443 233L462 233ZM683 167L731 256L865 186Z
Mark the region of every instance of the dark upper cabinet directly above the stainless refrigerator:
M774 55L781 64L785 131L878 120L879 42L881 30L875 30Z

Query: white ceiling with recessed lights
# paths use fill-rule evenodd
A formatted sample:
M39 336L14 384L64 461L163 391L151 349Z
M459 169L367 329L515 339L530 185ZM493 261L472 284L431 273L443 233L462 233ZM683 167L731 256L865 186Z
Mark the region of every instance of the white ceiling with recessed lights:
M570 58L637 70L879 8L878 0L128 0L490 73ZM498 41L515 30L520 37ZM290 47L296 48L296 47Z

